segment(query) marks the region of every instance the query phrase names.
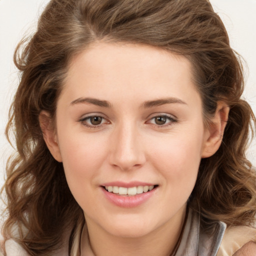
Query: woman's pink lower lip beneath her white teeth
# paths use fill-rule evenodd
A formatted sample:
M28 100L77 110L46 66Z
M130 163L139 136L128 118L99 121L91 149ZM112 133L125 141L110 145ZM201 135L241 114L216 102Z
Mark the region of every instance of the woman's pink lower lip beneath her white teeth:
M155 189L152 189L151 191L148 191L146 193L136 194L136 195L130 195L130 196L123 196L119 194L115 194L112 192L108 192L105 190L104 187L102 187L102 191L106 198L113 203L116 206L124 207L124 208L131 208L136 207L145 201L147 201L155 192Z

